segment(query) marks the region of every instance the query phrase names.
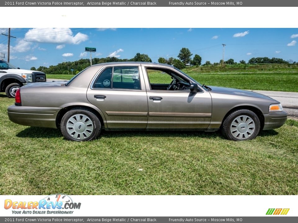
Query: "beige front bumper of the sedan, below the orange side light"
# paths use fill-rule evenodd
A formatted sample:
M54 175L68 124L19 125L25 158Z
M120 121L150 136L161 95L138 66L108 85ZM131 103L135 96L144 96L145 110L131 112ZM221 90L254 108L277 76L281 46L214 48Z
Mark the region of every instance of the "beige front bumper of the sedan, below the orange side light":
M264 128L263 130L268 129L277 129L285 124L287 120L287 112L270 112L269 114L264 115Z

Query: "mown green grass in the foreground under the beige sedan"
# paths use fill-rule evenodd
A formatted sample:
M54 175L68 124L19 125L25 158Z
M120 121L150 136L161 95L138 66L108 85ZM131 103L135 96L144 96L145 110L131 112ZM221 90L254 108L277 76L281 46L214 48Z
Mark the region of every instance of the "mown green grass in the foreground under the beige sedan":
M245 142L169 131L70 142L57 129L9 121L13 103L0 94L2 195L298 195L294 120Z

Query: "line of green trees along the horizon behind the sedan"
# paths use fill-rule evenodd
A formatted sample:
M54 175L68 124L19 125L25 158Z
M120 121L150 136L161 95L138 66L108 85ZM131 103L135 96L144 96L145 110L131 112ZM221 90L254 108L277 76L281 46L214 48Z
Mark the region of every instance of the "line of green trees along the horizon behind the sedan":
M192 57L192 53L188 48L183 47L179 54L177 55L177 58L170 57L170 58L164 58L160 57L158 59L158 63L165 63L172 65L178 69L183 69L186 66L208 66L208 65L222 65L223 60L220 60L219 62L211 63L210 61L206 61L204 64L201 64L202 58L200 55L195 54ZM131 59L119 59L117 57L106 57L106 58L93 58L92 64L98 64L98 63L108 63L108 62L127 62L127 61L133 61L133 62L152 62L151 58L147 54L140 54L137 53L133 58ZM240 60L240 64L246 64L245 60ZM248 61L248 64L256 64L256 63L292 63L296 64L293 60L283 60L281 58L268 58L268 57L253 57ZM237 64L237 62L234 61L234 59L228 59L224 61L224 64ZM90 59L79 59L76 61L68 61L68 62L62 62L58 63L57 65L51 65L48 68L45 66L40 66L39 68L32 67L31 70L37 70L45 72L46 74L77 74L80 71L84 70L85 68L90 66ZM71 72L71 69L73 69L73 72Z

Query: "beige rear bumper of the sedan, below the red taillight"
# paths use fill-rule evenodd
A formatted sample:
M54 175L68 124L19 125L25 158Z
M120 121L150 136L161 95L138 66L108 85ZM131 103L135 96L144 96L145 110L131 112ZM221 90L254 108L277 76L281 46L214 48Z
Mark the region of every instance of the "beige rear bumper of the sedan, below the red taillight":
M11 105L7 108L9 120L19 125L57 129L56 117L61 108Z

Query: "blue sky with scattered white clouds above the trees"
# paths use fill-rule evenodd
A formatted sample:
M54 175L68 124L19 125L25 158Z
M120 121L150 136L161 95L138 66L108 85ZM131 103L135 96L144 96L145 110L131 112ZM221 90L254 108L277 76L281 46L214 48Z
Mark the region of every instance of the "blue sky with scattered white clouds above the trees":
M0 33L8 34L7 28ZM17 67L56 65L90 58L85 47L95 47L93 57L133 58L136 53L177 57L182 47L211 63L278 57L298 62L298 28L12 28L10 62ZM7 37L0 35L0 52L7 57Z

